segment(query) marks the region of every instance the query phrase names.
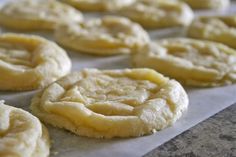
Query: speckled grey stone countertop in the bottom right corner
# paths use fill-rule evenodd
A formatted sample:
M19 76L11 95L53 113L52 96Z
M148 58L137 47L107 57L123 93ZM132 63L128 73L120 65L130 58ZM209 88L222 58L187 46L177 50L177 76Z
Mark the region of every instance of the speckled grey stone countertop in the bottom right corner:
M144 157L236 157L236 103Z

